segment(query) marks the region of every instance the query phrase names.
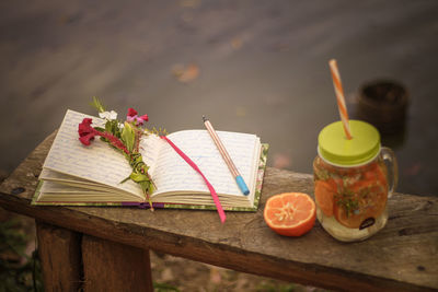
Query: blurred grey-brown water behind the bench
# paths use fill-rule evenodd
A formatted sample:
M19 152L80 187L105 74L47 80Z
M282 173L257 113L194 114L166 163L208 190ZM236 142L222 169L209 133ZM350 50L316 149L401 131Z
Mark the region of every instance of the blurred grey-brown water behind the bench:
M0 170L7 175L67 108L148 114L173 132L256 133L268 165L312 173L319 131L338 119L327 61L348 110L358 89L405 85L406 127L383 137L399 191L437 196L438 1L1 1Z

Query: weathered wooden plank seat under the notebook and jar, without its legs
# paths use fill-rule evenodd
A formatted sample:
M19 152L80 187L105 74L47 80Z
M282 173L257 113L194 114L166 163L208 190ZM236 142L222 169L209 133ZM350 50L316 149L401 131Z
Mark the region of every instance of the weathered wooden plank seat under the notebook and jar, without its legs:
M39 221L139 248L244 272L335 290L438 289L438 199L394 194L387 226L359 243L341 243L316 222L304 236L275 234L266 199L285 191L313 196L311 175L268 167L257 212L66 208L30 205L54 135L0 186L1 207Z

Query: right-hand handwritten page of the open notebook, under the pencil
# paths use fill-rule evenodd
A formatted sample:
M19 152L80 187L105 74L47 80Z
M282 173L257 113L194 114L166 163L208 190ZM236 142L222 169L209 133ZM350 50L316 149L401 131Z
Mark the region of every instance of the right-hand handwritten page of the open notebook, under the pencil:
M255 135L218 131L246 184L251 183L258 138ZM243 196L234 177L206 130L178 131L168 136L200 168L218 194ZM164 141L163 141L164 142ZM260 145L260 143L258 143ZM159 192L206 191L205 182L168 143L163 144L152 174ZM252 186L249 185L252 189Z

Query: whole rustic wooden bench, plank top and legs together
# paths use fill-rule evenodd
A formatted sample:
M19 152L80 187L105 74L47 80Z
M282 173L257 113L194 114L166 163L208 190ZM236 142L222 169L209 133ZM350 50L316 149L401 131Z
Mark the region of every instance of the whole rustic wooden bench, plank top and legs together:
M341 243L316 222L283 237L263 220L266 199L313 194L311 175L268 167L257 212L35 207L34 194L54 135L0 186L0 206L35 218L47 291L150 291L149 249L229 269L349 291L438 290L438 198L395 194L387 226Z

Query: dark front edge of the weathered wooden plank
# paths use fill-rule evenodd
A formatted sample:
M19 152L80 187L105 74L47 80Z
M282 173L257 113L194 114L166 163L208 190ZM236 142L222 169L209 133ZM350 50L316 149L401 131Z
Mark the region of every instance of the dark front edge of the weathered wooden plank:
M50 142L55 133L47 137L42 143ZM39 170L25 174L37 176L41 172L42 160L38 157L47 150L35 149L33 153L23 162L37 163ZM19 166L18 171L21 167ZM267 172L286 172L268 168ZM23 174L21 174L23 175ZM309 177L306 174L303 177ZM35 180L35 179L34 179ZM32 188L32 186L28 186ZM35 186L34 186L35 187ZM4 192L4 187L0 186L0 203L3 208L11 211L36 218L37 220L56 224L73 231L83 232L93 236L119 242L123 244L141 248L151 248L175 256L181 256L207 264L212 264L244 272L272 277L286 281L297 281L304 284L320 285L336 290L408 290L425 291L430 288L420 287L412 283L402 283L395 280L367 276L342 269L309 265L297 261L288 261L273 256L250 253L235 247L222 246L220 243L209 243L195 237L182 236L153 227L141 227L134 224L117 223L104 220L99 217L80 213L76 210L62 207L38 208L30 205L28 198L11 196ZM226 260L224 260L226 259ZM263 267L263 269L261 268Z

